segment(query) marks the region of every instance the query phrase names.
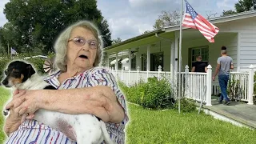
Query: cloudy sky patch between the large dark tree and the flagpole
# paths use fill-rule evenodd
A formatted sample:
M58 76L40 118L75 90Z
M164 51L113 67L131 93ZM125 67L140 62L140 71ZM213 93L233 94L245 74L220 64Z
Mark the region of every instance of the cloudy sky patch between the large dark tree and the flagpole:
M132 38L153 25L162 10L176 10L179 0L98 0L98 9L110 25L112 38Z

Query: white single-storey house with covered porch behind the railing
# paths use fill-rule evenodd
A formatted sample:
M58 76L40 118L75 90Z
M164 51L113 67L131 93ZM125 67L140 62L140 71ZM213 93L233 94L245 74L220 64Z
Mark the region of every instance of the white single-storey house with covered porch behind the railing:
M214 43L208 42L198 30L183 27L182 71L185 71L186 65L191 70L192 62L200 54L202 61L212 66L214 72L222 46L227 47L228 55L233 58L235 72L248 71L250 65L256 66L255 10L211 18L210 22L220 30L214 37ZM146 71L148 76L150 71L154 73L161 66L162 71L169 72L170 78L175 79L175 72L178 72L178 42L179 26L170 26L127 39L104 49L106 67L121 70L121 62L119 65L118 62L110 65L110 61L129 58L128 70L131 72L139 66L139 71Z

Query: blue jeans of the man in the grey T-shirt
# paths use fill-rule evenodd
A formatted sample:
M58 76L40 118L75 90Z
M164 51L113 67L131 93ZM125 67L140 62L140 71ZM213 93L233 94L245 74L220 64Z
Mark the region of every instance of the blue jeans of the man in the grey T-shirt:
M226 88L227 88L227 82L229 81L230 76L229 75L218 75L218 83L221 87L222 94L219 98L219 102L222 102L223 98L226 100L226 102L230 102L230 99L227 97Z

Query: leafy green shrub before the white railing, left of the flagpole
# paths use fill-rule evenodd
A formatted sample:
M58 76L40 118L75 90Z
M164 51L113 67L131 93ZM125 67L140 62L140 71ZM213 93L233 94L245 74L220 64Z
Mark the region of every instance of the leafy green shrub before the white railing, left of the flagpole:
M134 86L126 86L118 82L126 95L126 100L152 109L164 109L173 106L174 92L166 79L148 78L148 82L138 82Z

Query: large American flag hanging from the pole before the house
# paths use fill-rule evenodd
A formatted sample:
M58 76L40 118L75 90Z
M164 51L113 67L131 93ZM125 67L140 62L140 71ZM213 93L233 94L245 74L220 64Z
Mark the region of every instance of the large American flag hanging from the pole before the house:
M186 13L183 18L182 26L190 27L199 30L202 35L209 41L214 42L214 36L218 34L218 27L214 26L210 22L198 14L189 2L185 0Z

